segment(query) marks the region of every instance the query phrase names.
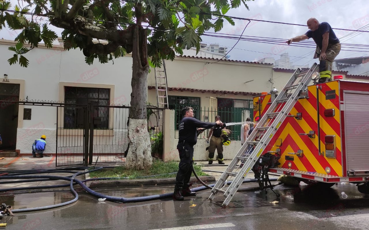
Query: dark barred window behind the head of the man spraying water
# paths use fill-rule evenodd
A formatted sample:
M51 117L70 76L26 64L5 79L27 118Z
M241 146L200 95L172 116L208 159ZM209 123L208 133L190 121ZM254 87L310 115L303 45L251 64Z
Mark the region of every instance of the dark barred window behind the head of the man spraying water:
M182 109L186 106L193 107L194 118L200 120L200 98L187 97L187 96L168 96L169 109L175 110L175 127L178 130L178 123L182 119Z

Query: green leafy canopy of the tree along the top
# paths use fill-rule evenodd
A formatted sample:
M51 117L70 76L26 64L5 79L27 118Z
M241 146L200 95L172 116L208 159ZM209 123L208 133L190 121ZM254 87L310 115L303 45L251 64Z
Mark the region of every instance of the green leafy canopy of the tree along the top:
M15 38L16 46L9 49L14 56L8 62L28 66L25 53L44 43L52 47L58 38L49 25L62 28L65 49L79 48L85 61L95 59L107 63L114 58L131 53L135 25L147 29L149 61L160 66L162 59L173 60L175 52L196 47L200 50L201 34L214 28L223 28L224 20L234 25L225 15L230 8L248 0L25 0L11 6L10 1L0 1L0 29L7 26L22 30ZM20 6L21 5L21 6ZM108 44L93 42L107 40ZM25 47L24 44L29 44Z

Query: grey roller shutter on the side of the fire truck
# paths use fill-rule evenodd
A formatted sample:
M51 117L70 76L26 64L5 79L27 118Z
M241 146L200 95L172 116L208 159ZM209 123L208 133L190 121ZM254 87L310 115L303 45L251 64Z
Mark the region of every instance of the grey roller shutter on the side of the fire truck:
M369 94L344 93L347 170L369 171Z

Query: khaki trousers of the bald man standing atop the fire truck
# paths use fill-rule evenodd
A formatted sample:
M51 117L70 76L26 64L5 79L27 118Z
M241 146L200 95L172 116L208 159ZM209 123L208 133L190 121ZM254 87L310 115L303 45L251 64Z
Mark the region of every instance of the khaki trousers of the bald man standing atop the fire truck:
M325 60L321 60L320 58L321 50L319 46L317 46L314 58L319 58L320 61L319 63L320 83L326 82L327 80L332 80L332 64L340 51L341 51L341 43L328 44L327 51L325 51L327 58Z

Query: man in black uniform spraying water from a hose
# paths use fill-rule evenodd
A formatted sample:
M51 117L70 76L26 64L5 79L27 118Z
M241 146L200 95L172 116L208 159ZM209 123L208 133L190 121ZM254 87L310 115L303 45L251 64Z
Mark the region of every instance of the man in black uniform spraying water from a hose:
M190 177L192 174L193 146L197 142L197 128L210 128L215 125L221 125L220 121L203 122L193 117L193 108L184 107L182 109L183 118L179 122L179 141L177 149L179 152L179 169L176 177L173 197L183 201L185 196L196 196L189 188Z

